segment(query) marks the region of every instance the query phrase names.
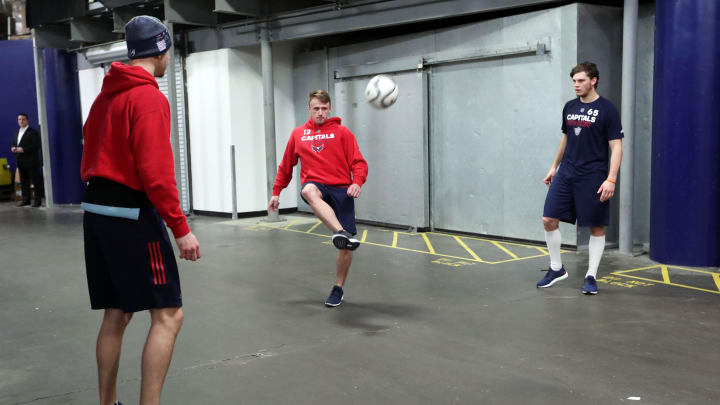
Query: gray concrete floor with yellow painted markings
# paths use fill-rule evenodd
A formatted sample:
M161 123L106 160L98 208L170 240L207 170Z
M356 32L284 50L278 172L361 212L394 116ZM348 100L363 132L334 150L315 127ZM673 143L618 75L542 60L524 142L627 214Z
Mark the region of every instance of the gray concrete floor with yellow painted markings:
M81 219L0 204L0 404L97 403L101 313ZM584 253L565 253L570 278L538 290L548 259L535 247L361 226L370 243L328 309L335 249L312 217L291 219L192 218L204 257L181 263L185 324L163 403L720 402L717 269L610 274L655 264L608 252L600 277L615 284L584 296ZM125 405L148 325L140 313L126 333Z

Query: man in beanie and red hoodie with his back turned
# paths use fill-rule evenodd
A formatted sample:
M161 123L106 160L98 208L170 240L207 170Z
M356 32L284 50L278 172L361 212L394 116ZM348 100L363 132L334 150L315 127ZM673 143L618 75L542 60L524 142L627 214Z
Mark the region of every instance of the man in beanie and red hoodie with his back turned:
M155 77L165 74L172 40L154 17L125 26L130 63L113 63L83 127L85 265L93 309L105 311L96 354L100 405L117 402L125 327L149 310L140 405L157 405L183 321L180 278L165 224L180 258L200 245L180 209L170 145L170 107Z

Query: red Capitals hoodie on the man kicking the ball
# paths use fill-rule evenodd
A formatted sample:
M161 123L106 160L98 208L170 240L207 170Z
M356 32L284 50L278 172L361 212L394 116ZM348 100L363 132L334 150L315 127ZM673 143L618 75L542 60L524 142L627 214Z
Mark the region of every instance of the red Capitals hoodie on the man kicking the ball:
M335 187L365 184L367 162L360 153L355 135L340 122L340 118L332 117L322 125L315 125L310 118L305 125L293 130L278 167L273 195L280 195L280 191L290 183L292 169L298 159L302 162L302 184L308 181Z

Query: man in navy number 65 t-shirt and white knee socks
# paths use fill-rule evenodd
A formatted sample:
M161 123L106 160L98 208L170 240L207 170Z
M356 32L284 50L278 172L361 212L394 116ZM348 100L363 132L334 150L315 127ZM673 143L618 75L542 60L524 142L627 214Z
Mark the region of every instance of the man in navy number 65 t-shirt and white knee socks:
M570 77L578 98L563 108L562 140L543 180L550 187L543 210L550 268L537 286L550 287L567 278L560 257L558 225L560 221L577 221L578 226L589 226L591 235L583 293L597 294L597 269L622 160L623 131L615 106L596 91L600 78L597 66L583 62L573 68Z

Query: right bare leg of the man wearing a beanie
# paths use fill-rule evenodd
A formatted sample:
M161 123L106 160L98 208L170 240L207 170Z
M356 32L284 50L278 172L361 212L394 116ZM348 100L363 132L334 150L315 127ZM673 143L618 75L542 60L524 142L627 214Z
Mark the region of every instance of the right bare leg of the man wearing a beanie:
M140 405L160 404L160 392L182 326L183 311L182 308L151 309L150 317L152 324L142 358Z

